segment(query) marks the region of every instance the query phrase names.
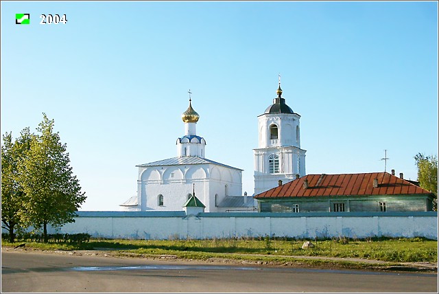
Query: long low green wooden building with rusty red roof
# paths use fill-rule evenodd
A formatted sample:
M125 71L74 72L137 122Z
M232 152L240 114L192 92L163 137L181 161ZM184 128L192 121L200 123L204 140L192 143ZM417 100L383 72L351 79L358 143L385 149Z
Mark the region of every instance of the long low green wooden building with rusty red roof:
M308 174L255 195L259 212L427 212L434 195L402 174Z

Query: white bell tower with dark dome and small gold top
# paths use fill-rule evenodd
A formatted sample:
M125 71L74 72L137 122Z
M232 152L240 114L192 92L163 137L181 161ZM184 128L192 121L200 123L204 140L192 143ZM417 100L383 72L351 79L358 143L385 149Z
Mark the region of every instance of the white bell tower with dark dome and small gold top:
M300 115L282 98L281 76L273 104L258 116L259 146L254 152L254 194L305 176L300 148Z

